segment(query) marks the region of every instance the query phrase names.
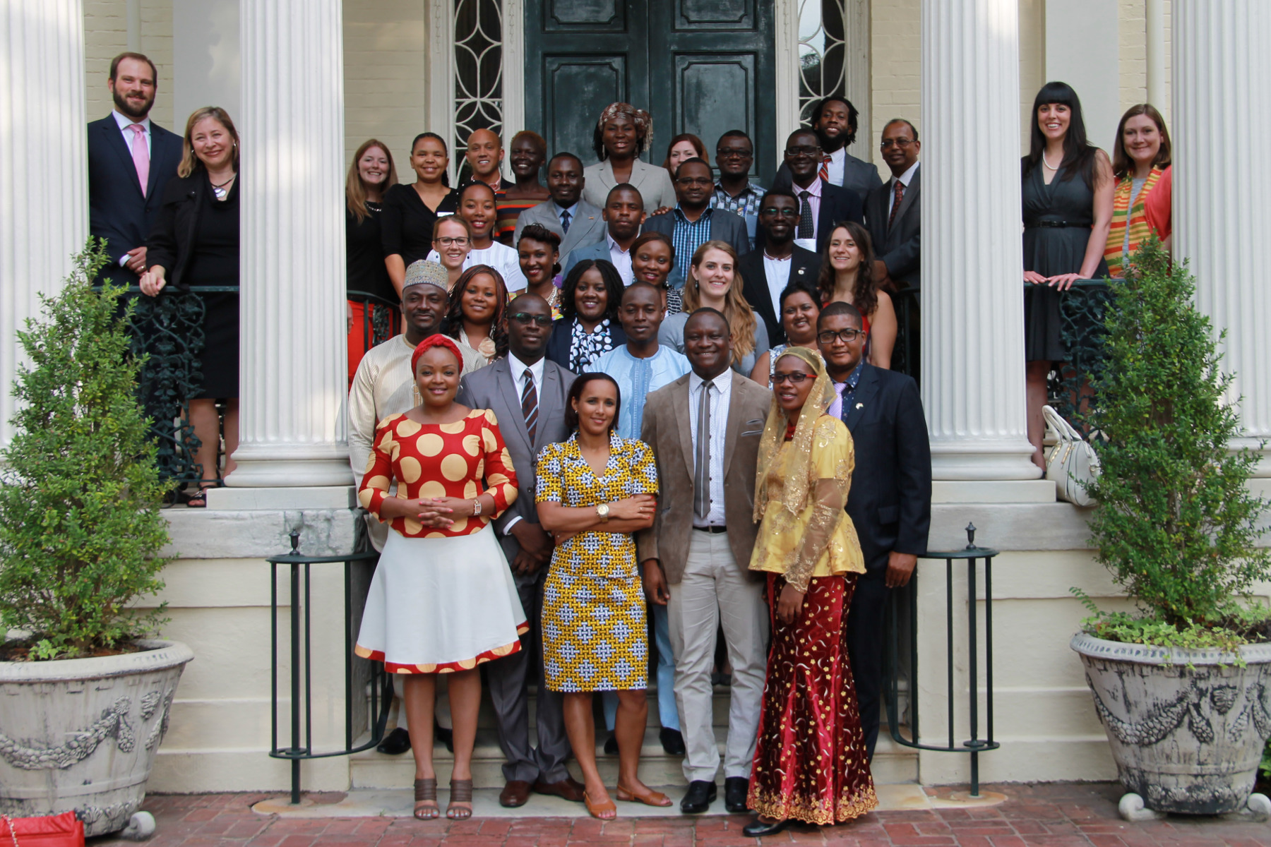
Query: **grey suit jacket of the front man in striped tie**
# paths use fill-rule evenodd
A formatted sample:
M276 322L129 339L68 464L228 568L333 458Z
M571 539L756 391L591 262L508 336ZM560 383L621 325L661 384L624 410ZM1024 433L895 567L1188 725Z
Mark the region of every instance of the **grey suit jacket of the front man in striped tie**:
M534 493L538 485L535 464L539 451L569 437L564 425L566 395L573 375L554 362L543 362L543 380L539 383L539 423L535 427L534 443L525 429L525 415L521 413L521 391L512 378L512 364L503 357L488 367L464 376L459 382L455 401L472 409L491 409L498 419L498 432L512 457L516 470L516 483L520 494L516 502L501 514L494 523L494 532L503 547L508 564L520 552L516 537L503 531L515 517L530 523L539 522L539 512L534 505Z

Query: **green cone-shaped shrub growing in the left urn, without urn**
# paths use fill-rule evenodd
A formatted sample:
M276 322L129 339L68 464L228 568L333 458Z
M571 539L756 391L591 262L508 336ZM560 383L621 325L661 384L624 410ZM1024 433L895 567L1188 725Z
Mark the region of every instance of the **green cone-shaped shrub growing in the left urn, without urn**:
M15 434L0 453L0 624L31 658L90 655L158 626L128 604L163 588L168 542L155 444L136 397L122 288L94 291L92 241L43 316L19 331Z

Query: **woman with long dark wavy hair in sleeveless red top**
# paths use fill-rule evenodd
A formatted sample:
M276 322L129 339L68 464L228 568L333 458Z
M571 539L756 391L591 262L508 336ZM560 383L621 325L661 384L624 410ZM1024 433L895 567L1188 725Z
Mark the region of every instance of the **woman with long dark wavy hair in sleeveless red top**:
M896 307L891 295L878 287L873 273L873 243L866 227L855 221L835 223L825 245L825 258L816 283L821 307L825 309L834 301L855 306L869 337L866 358L869 364L890 371L891 350L896 347L899 331Z

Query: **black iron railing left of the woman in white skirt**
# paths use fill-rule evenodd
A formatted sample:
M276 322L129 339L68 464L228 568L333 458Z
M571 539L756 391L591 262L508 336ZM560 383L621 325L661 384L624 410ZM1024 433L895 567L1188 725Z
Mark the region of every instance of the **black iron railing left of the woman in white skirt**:
M364 536L365 538L365 536ZM365 547L365 540L358 544ZM300 554L300 532L291 532L291 552L269 559L269 639L272 735L269 756L291 762L291 803L300 803L300 763L305 759L350 756L370 749L384 738L384 726L393 705L393 682L384 665L353 655L357 639L355 624L361 617L361 603L366 590L355 587L355 566L379 557L374 550L361 550L339 556L305 556ZM313 744L313 650L310 620L309 577L313 565L344 565L344 748L315 752ZM278 745L278 565L290 568L291 590L287 597L290 616L290 644L287 692L290 698L291 743ZM325 664L325 659L319 659ZM365 709L365 691L370 688L370 715ZM355 747L353 742L370 726L371 738Z

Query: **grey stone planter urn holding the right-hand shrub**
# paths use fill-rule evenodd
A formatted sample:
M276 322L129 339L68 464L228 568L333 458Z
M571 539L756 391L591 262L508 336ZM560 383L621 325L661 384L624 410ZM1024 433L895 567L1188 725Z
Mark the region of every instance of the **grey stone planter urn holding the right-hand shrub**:
M1271 814L1253 794L1271 737L1271 644L1181 650L1104 641L1084 632L1070 646L1085 665L1107 731L1130 820L1179 814Z

